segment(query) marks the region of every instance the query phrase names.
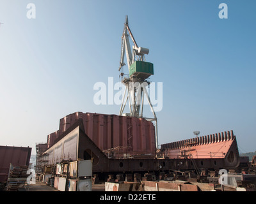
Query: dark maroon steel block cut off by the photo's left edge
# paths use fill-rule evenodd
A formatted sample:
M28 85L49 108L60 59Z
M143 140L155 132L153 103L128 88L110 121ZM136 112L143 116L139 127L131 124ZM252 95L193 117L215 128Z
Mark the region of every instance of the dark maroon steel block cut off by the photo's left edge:
M10 164L13 166L29 166L30 147L0 146L0 182L6 182Z

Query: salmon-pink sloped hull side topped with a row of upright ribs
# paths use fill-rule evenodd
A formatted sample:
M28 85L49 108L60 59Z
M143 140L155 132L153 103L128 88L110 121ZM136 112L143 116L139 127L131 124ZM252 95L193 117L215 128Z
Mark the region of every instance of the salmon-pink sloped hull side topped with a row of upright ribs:
M166 157L180 159L226 159L237 163L239 152L233 131L205 135L161 145Z

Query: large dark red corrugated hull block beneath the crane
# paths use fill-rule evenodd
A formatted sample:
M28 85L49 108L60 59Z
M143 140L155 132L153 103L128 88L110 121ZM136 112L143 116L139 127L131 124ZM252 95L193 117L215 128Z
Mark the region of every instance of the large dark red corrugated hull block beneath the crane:
M47 137L48 148L79 119L83 119L86 135L102 151L116 147L128 154L156 151L155 128L152 122L136 117L81 112L60 119L60 129Z

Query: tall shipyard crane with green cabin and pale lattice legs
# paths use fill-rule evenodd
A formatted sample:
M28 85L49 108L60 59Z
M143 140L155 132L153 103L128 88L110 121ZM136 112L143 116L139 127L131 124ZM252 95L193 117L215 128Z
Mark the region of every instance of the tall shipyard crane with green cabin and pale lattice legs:
M132 49L129 42L129 36L134 44L132 45ZM138 47L129 27L128 16L126 16L122 34L121 60L118 69L118 71L120 71L120 77L122 77L122 83L125 85L125 92L122 98L119 115L140 117L155 122L156 148L158 149L157 117L146 89L150 84L150 82L148 82L148 77L154 75L154 64L147 62L145 59L145 55L148 55L148 53L148 48ZM125 77L124 74L124 66L126 65L124 62L125 54L129 70L129 75L127 75L127 77ZM151 112L153 113L152 118L143 117L143 105L145 99L147 99ZM129 102L130 113L124 113L127 101Z

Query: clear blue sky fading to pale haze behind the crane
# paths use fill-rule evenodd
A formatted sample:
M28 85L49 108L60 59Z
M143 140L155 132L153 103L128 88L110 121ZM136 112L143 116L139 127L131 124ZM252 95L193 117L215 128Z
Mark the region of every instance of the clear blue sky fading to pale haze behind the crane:
M128 15L138 45L150 49L150 80L163 82L159 143L233 130L240 152L254 152L255 8L253 0L1 0L0 145L35 154L65 115L118 115L119 105L95 105L93 85L119 82Z

